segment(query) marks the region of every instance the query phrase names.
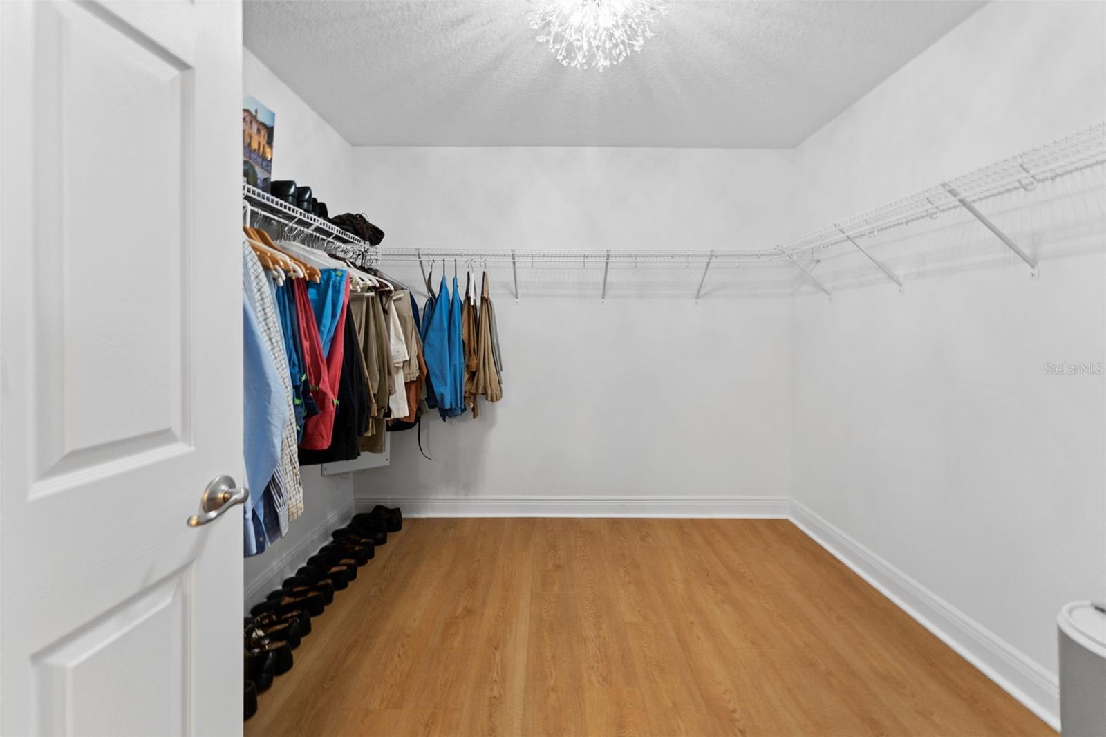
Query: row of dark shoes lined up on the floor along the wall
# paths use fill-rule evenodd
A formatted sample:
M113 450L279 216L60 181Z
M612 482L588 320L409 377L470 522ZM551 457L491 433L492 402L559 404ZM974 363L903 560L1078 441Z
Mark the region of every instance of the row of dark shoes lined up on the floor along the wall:
M244 621L244 717L258 710L258 694L273 678L292 669L292 651L311 634L311 617L334 601L334 592L349 587L357 569L388 541L388 532L404 527L399 508L377 505L373 511L354 515L349 523L331 534L331 542L307 559L280 589L250 610Z

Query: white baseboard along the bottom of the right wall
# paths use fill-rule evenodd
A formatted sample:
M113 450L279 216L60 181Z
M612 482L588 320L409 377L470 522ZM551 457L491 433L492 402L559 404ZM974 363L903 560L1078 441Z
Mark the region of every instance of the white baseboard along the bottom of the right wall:
M1060 729L1055 674L794 499L791 521L1048 726Z

